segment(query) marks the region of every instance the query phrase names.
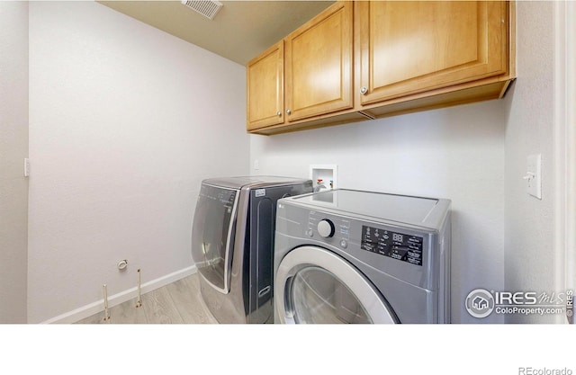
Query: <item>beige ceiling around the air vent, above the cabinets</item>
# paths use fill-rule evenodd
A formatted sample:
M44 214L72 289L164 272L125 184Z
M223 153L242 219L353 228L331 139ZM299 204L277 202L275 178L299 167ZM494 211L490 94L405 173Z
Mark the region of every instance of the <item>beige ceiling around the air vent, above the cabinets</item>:
M98 1L241 65L333 1L220 1L213 20L178 1Z

